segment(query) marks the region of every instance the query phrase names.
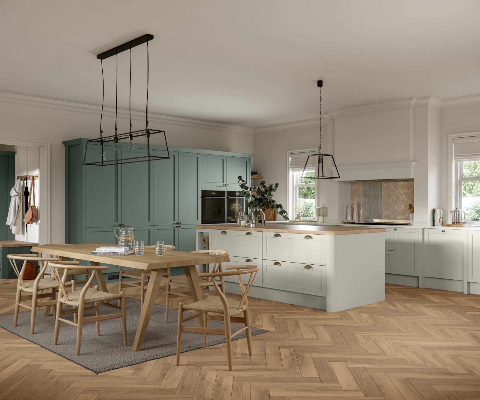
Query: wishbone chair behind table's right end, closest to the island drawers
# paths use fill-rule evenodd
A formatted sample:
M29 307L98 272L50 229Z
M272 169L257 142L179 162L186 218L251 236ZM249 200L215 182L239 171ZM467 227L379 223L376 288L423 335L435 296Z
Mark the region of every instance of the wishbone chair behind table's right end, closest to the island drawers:
M228 255L227 250L196 250L191 253L202 253L202 254L214 254L214 255ZM212 272L222 272L222 263L216 263L213 267ZM165 274L164 274L165 276ZM200 289L203 291L208 291L210 286L219 285L222 288L223 294L225 294L225 282L223 276L220 277L220 280L216 279L199 279ZM172 287L177 287L181 289L188 289L188 291L173 291ZM170 303L170 309L173 311L173 299L175 297L192 297L190 291L190 285L188 284L187 277L185 275L173 275L170 276L170 270L167 270L167 293L165 298L165 323L168 323L168 306Z

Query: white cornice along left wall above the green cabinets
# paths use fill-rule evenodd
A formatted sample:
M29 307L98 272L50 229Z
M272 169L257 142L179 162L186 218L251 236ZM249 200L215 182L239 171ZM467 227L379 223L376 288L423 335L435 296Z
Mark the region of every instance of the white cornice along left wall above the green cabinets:
M0 92L0 102L20 104L23 106L42 107L42 108L48 108L48 109L60 109L60 110L72 111L72 112L82 112L86 114L96 114L96 115L100 114L99 106L93 106L90 104L82 104L82 103L73 103L70 101L52 100L49 98L42 98L42 97L15 95L12 93L4 93L4 92ZM103 115L108 117L115 117L115 109L104 107ZM119 118L127 118L127 119L129 118L128 110L119 109L117 115ZM139 111L132 111L132 119L144 120L145 114ZM188 126L192 128L202 128L202 129L232 132L232 133L250 133L250 134L253 133L252 128L246 128L243 126L228 125L228 124L222 124L217 122L199 121L199 120L192 120L192 119L180 118L180 117L170 117L168 115L153 114L153 113L148 114L148 121L150 121L150 123L155 122L159 124L163 123L163 124L169 124L169 125L181 125L181 126Z

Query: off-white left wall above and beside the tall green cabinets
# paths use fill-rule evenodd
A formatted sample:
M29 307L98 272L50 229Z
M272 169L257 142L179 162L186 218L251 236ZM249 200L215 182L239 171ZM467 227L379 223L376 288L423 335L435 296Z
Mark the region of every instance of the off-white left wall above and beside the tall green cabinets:
M0 143L3 138L21 138L49 141L50 147L50 201L51 201L51 242L64 242L65 237L65 168L64 146L62 141L78 137L95 138L99 136L100 116L89 110L72 111L48 106L40 102L41 106L18 104L20 101L1 102L0 107ZM66 103L65 103L66 104ZM68 108L68 107L67 107ZM81 109L81 108L79 108ZM252 153L252 132L245 129L225 130L199 128L189 125L189 121L180 121L179 124L156 123L150 118L150 127L163 129L167 133L169 146L191 147L209 150L234 151ZM133 129L142 129L144 121L132 121ZM128 119L119 118L119 131L128 129ZM114 118L104 115L104 134L114 130ZM158 138L152 136L152 144Z

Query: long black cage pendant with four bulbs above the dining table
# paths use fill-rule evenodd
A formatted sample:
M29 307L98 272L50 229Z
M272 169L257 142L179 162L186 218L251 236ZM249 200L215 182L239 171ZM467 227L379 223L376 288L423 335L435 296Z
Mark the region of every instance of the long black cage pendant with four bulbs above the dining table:
M154 161L154 160L163 160L170 158L170 153L168 151L167 145L167 136L165 131L159 131L156 129L150 129L148 127L148 80L149 80L149 54L148 54L148 41L153 39L153 35L143 35L137 37L136 39L131 40L130 42L124 43L110 50L104 51L101 54L96 56L97 59L101 61L101 70L102 70L102 106L101 106L101 115L100 115L100 137L96 139L90 139L87 141L84 155L84 165L116 165L116 164L128 164L132 162L141 162L141 161ZM141 44L147 44L147 93L146 93L146 107L145 107L145 129L132 132L132 47L139 46ZM117 88L118 88L118 53L130 49L130 102L129 102L129 115L130 115L130 131L126 133L117 133ZM103 99L104 99L104 80L103 80L103 60L108 57L115 56L115 133L113 135L104 136L103 135ZM156 133L163 133L165 139L165 146L167 147L166 156L156 156L154 152L150 149L150 136ZM134 151L135 144L133 143L134 137L143 137L145 143L145 151ZM126 156L121 157L119 141L128 140L128 150L125 152ZM113 142L113 151L117 154L116 158L108 159L105 154L104 145L108 142ZM95 146L98 148L98 160L92 162L87 161L87 152L89 151L89 146ZM143 150L143 146L140 147ZM92 158L90 153L89 158Z

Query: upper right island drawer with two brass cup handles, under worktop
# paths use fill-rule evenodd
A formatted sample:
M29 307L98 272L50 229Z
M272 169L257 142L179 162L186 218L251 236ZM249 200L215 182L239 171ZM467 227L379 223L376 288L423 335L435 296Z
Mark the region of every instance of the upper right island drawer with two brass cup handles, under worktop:
M264 260L326 264L326 236L264 232Z

